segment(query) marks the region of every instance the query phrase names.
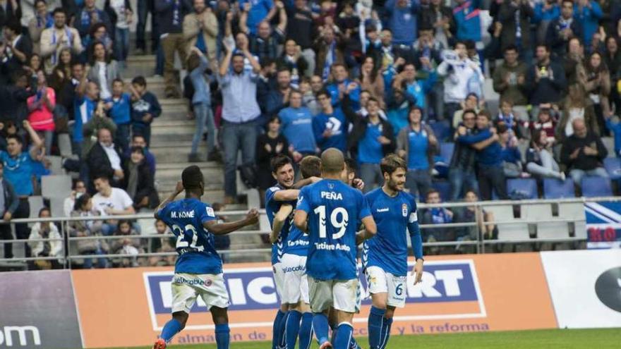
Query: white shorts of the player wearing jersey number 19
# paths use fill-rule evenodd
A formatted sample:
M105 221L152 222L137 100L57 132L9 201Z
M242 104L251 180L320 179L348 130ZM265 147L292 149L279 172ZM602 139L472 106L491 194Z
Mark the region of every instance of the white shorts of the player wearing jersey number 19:
M323 312L330 307L343 312L356 312L358 279L351 280L316 280L308 276L310 293L310 310Z

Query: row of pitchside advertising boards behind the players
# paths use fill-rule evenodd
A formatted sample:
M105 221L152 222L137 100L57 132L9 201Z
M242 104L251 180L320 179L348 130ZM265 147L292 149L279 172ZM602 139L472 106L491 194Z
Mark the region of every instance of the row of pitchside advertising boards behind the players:
M231 296L231 339L269 340L278 304L272 267L225 267ZM56 343L66 341L71 329L78 333L73 338L79 339L81 334L84 348L150 345L170 317L171 278L169 268L0 274L0 348L61 348ZM361 282L366 286L366 281ZM30 291L31 284L37 293ZM409 281L406 307L397 310L392 332L621 327L620 291L621 250L429 257L423 283L414 287ZM54 298L42 298L42 293ZM73 295L76 301L68 302ZM77 317L66 317L76 314L75 304ZM361 314L354 320L356 336L366 336L369 306L368 300L363 302ZM35 323L49 314L54 314L51 325ZM20 343L18 333L9 330L12 346L7 345L6 324L37 326L40 344L28 337L26 345L16 345ZM212 343L211 324L207 309L199 302L188 326L173 341ZM61 325L68 332L43 331L45 326ZM80 341L71 343L63 348L80 346Z

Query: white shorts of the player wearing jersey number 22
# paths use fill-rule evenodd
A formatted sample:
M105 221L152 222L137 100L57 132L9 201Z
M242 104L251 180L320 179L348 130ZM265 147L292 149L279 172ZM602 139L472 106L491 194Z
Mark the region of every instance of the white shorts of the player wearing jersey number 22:
M174 274L172 312L190 313L196 298L203 298L207 309L229 307L229 293L223 274Z

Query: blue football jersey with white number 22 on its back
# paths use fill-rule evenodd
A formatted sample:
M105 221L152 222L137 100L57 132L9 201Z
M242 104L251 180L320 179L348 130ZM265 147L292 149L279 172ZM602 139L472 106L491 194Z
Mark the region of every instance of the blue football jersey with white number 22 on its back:
M216 219L209 204L198 199L174 201L160 209L157 216L177 237L176 273L222 273L222 259L216 252L214 235L203 228L203 223Z

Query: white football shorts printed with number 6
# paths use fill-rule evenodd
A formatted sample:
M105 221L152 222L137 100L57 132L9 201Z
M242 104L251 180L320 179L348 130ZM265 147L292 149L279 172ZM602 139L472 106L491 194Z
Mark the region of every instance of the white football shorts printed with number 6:
M405 307L407 276L394 276L380 267L368 267L365 274L369 293L388 293L387 305Z

